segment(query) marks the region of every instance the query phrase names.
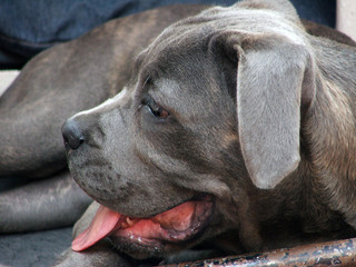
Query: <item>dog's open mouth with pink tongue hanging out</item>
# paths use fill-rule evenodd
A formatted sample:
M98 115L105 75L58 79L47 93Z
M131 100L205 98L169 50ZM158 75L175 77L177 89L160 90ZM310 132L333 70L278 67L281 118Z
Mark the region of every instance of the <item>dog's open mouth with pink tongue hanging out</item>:
M126 245L158 250L167 244L179 244L195 237L205 228L211 214L209 196L182 202L149 218L131 218L100 206L90 226L72 241L72 249L82 251L109 237Z

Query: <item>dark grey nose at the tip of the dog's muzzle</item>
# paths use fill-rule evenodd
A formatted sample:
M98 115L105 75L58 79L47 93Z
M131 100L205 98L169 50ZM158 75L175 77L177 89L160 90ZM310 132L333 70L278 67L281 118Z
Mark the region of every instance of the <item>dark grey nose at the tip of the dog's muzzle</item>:
M62 126L65 145L70 149L78 149L85 141L85 137L73 119L68 119Z

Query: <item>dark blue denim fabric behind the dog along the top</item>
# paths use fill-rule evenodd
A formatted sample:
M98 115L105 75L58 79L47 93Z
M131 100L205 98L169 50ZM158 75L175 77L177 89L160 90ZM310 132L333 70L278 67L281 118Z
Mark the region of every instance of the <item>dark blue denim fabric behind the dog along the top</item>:
M31 57L110 19L170 3L236 0L0 0L0 69L21 68ZM335 27L336 0L291 0L301 18Z

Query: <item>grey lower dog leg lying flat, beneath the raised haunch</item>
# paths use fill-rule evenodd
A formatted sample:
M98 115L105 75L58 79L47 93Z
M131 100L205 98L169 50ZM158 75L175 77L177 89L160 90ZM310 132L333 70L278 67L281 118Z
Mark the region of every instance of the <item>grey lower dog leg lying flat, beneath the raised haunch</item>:
M0 194L0 233L72 225L91 199L69 172Z

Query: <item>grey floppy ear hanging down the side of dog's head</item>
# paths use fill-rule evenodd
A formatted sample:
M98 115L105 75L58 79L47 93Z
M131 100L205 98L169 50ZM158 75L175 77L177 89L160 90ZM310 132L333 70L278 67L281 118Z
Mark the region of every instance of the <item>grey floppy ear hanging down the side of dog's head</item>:
M315 95L310 53L281 39L235 42L240 146L249 176L261 189L274 188L297 168L300 105L310 105Z

